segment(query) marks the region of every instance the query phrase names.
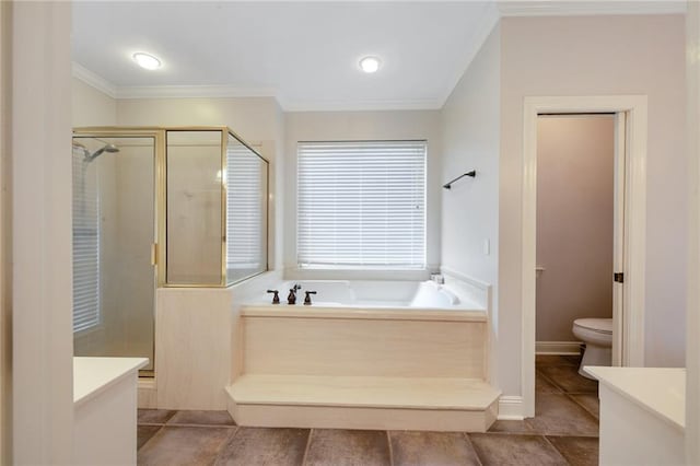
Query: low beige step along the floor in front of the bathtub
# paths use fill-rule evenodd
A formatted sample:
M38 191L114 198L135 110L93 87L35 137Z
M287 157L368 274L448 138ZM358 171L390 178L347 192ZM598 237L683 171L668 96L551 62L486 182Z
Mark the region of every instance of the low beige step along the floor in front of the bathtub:
M486 432L500 392L481 380L244 374L226 388L240 426Z

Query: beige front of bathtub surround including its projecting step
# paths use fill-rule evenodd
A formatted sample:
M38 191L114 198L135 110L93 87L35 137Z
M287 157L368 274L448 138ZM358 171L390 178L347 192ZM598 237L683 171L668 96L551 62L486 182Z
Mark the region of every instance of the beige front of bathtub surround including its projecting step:
M487 431L500 397L487 382L487 310L366 304L243 305L226 387L236 422Z

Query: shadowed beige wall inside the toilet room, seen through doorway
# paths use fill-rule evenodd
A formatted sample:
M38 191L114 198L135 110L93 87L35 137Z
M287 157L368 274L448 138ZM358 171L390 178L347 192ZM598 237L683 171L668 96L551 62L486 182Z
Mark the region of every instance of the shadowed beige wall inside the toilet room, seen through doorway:
M612 317L612 116L537 121L537 341L576 341L574 319Z

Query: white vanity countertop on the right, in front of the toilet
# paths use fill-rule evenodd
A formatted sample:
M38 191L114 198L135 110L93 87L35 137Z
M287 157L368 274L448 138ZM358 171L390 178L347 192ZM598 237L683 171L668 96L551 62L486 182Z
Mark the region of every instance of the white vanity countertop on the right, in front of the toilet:
M679 430L686 427L686 370L682 368L603 368L588 374L631 403Z

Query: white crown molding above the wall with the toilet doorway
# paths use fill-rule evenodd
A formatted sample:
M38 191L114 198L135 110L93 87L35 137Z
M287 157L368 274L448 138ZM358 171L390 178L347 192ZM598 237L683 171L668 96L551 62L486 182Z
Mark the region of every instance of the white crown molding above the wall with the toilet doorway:
M580 0L510 0L499 1L498 10L505 16L582 16L616 14L685 14L686 2L657 1L580 1Z

